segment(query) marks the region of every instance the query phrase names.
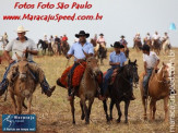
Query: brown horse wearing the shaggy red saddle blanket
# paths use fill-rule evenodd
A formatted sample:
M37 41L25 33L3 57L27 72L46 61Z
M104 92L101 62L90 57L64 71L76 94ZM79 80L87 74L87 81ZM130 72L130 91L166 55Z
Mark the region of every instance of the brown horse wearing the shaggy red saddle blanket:
M82 64L80 64L82 65ZM86 69L82 76L81 83L78 88L74 90L73 98L70 100L71 112L72 112L72 123L75 124L74 117L74 96L80 98L80 106L82 110L81 119L85 119L85 124L90 123L90 114L92 105L94 102L94 98L97 96L97 92L99 89L97 76L100 74L100 70L98 66L98 60L94 57L90 57L86 60ZM59 80L57 80L57 84L61 87L64 87ZM88 106L86 106L86 100L88 100Z

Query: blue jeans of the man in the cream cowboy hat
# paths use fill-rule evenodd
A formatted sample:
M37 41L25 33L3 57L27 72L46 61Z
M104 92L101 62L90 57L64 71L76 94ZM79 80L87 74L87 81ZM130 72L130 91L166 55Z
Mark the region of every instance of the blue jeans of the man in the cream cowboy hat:
M35 63L34 61L28 61L28 62L29 62L29 63ZM5 71L4 75L3 75L2 82L0 83L0 90L5 92L5 89L8 88L9 83L8 83L7 76L8 76L8 73L9 73L9 71L10 71L10 69L11 69L15 63L16 63L16 61L12 62L12 63L8 66L7 71ZM49 87L49 84L48 84L47 81L46 81L46 77L45 77L44 81L40 83L40 87L43 88L43 92L44 92L44 93L47 93L47 90L50 88L50 87Z

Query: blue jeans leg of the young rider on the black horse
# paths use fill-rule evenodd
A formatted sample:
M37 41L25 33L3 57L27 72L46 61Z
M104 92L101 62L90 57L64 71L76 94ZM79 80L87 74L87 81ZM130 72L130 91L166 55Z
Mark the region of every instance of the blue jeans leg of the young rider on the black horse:
M106 73L106 75L104 76L104 86L103 86L103 92L104 92L104 94L106 93L106 90L107 90L107 87L108 87L108 80L109 80L109 77L111 76L111 74L114 73L114 68L110 68L108 71L107 71L107 73Z

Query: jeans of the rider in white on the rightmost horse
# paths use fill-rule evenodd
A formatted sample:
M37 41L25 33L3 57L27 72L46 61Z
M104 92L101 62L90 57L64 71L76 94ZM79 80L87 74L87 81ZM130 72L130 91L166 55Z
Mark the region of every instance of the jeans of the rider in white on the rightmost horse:
M152 71L153 69L146 69L147 74L143 77L143 88L145 94L147 94L149 80L152 75Z

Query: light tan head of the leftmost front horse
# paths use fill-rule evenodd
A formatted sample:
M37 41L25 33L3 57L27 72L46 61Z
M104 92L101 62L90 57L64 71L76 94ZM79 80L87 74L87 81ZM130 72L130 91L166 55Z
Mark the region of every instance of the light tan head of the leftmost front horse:
M17 58L17 71L19 71L19 77L22 82L26 81L26 75L27 75L27 71L28 71L28 62L27 62L27 59L26 57L24 58L21 58L19 57L17 53L16 55L16 58Z

